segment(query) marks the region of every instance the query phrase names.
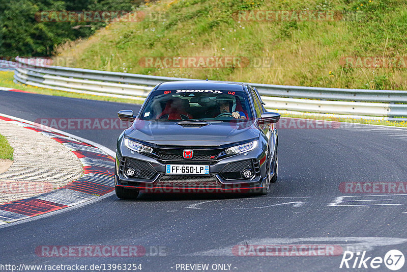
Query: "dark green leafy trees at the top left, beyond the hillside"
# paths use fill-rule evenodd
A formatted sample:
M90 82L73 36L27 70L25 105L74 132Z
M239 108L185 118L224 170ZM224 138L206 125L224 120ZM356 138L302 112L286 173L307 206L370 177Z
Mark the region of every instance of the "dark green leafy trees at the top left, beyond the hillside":
M55 46L88 37L104 23L91 28L85 22L36 19L40 11L131 10L139 0L0 0L0 56L52 56ZM76 26L76 27L75 27Z

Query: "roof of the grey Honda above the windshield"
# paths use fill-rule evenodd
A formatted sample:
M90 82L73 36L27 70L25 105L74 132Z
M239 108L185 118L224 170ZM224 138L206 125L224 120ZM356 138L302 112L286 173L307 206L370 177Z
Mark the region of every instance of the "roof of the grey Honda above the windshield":
M156 90L219 90L219 91L245 91L245 84L239 82L188 80L168 81L160 84Z

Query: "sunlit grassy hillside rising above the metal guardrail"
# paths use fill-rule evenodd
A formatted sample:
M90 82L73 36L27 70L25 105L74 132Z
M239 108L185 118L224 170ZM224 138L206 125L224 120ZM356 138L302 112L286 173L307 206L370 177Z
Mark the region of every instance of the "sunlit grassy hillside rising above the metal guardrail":
M336 11L343 17L256 21L234 16L237 11L257 10ZM61 45L55 59L69 60L68 66L137 74L327 88L407 89L405 1L146 0L139 11L159 17L111 22L88 39ZM259 62L215 67L169 61L213 56ZM154 60L149 65L147 57ZM347 57L350 62L345 61ZM362 57L386 58L391 63L362 64Z

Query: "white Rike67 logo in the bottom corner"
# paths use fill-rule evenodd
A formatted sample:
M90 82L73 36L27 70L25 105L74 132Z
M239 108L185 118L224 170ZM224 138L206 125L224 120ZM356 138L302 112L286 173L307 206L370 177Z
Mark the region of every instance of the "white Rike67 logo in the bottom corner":
M352 251L345 251L343 253L342 261L339 268L379 268L386 265L390 270L399 270L404 265L404 255L401 251L390 250L386 253L385 257L366 257L366 251L353 253Z

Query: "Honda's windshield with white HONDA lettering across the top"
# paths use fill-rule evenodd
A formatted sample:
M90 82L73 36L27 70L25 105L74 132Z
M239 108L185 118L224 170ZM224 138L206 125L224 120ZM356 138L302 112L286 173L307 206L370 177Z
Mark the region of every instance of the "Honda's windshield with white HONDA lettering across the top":
M243 91L156 90L144 105L140 119L241 122L252 120L253 114Z

